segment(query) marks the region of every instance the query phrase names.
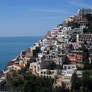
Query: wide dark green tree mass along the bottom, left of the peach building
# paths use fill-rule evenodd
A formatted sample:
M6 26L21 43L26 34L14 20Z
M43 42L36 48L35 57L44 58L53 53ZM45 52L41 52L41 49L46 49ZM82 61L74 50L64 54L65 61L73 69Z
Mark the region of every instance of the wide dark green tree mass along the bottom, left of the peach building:
M51 78L41 78L31 73L7 76L7 85L11 92L51 92L54 80Z

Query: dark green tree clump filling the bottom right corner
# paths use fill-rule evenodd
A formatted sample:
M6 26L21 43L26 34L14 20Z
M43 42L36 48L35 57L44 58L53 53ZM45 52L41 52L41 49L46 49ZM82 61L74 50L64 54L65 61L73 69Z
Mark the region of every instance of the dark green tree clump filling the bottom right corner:
M72 76L71 92L92 92L92 71L86 70L82 78L78 78L76 74Z

